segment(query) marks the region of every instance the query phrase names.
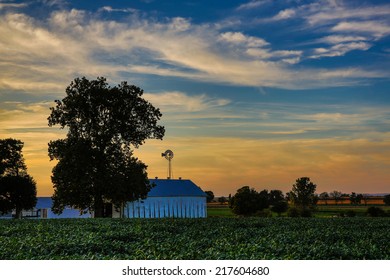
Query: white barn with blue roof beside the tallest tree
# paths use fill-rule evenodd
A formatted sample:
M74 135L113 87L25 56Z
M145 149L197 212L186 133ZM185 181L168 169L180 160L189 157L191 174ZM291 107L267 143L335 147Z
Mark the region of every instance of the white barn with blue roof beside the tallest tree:
M206 194L191 180L151 179L146 199L128 202L128 218L206 218Z

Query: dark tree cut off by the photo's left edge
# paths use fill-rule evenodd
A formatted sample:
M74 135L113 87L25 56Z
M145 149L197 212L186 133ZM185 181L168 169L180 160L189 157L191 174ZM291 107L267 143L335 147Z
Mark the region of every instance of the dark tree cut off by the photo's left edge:
M15 218L21 218L23 209L31 209L37 203L36 183L27 174L23 145L16 139L0 140L0 213L15 210Z

